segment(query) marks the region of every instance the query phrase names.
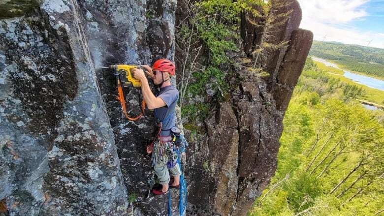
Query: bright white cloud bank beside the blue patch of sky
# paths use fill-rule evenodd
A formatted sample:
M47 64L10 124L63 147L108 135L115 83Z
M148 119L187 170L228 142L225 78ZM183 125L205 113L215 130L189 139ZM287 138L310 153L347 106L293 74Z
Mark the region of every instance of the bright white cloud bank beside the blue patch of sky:
M349 27L355 19L364 19L368 13L364 4L369 0L298 0L303 11L300 28L314 33L316 40L338 41L384 48L384 33L359 31Z

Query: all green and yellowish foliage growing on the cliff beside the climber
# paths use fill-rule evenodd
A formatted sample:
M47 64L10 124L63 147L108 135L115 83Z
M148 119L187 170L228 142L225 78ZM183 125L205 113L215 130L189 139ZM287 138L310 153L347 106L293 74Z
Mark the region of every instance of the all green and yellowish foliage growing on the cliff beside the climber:
M177 45L185 58L178 59L182 64L178 89L181 93L179 105L183 117L192 122L206 117L204 114L208 113L209 105L193 99L205 95L206 89L215 93L212 98L214 101L228 101L230 86L227 78L231 76L231 67L227 65L239 63L232 62L228 54L241 49L237 47L236 42L240 38L238 27L241 12L248 14L252 25L264 29L260 46L255 49L253 59L248 59L248 63L254 62L248 69L258 77L269 76L264 71L268 55L287 46L287 41L276 44L273 32L286 22L290 13L275 14L280 7L286 6L286 1L274 4L271 2L198 0L187 3L186 10L189 11L190 17L176 28ZM265 22L260 23L260 20ZM201 56L203 58L199 58Z

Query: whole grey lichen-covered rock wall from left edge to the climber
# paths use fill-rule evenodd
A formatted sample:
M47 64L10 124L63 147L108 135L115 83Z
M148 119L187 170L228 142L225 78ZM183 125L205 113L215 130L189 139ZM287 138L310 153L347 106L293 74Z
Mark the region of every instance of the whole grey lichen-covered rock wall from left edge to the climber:
M153 114L121 118L114 77L98 66L173 60L176 0L0 4L10 11L0 20L1 207L127 215L131 196L136 214L166 214L166 197L144 199ZM125 92L132 115L139 92Z

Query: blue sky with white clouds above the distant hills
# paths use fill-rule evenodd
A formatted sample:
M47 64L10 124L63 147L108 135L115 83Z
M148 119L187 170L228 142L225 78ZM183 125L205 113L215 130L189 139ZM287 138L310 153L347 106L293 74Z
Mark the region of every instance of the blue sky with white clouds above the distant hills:
M315 40L384 48L384 0L298 0ZM325 37L325 39L324 39Z

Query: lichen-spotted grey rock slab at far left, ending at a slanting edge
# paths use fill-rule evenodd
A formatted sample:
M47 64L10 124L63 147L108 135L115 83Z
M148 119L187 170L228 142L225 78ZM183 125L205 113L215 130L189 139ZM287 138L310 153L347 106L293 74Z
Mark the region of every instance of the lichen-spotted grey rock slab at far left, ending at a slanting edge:
M0 199L9 215L124 215L127 190L76 1L0 21Z

